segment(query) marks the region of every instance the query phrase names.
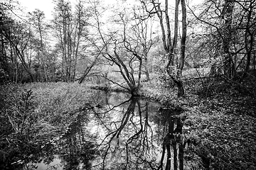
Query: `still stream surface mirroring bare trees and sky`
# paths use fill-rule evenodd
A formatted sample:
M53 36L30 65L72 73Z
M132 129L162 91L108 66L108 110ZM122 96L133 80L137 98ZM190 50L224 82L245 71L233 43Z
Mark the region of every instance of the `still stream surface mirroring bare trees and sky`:
M99 91L94 100L24 169L184 169L181 111L126 94Z

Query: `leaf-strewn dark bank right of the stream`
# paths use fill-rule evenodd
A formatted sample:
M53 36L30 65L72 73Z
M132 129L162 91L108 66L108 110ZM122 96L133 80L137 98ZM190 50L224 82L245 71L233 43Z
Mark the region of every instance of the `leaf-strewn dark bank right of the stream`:
M166 107L182 108L184 123L190 125L195 145L192 152L201 157L206 169L256 169L256 89L250 77L244 84L223 80L206 89L199 80L185 81L186 96L153 82L142 87L142 95ZM249 80L250 79L250 80ZM208 97L206 97L208 93Z

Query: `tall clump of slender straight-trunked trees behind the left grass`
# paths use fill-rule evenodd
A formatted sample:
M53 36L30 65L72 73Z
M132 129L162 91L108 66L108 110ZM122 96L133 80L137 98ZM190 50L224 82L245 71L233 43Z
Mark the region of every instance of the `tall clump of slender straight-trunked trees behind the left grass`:
M62 52L62 72L65 81L74 81L78 58L86 43L89 16L82 0L76 4L75 13L70 1L58 0L55 3L53 28Z

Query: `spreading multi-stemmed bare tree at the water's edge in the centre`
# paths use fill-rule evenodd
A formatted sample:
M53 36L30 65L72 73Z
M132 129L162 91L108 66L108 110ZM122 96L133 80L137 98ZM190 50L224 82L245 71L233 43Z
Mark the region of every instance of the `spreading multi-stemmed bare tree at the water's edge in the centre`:
M150 40L147 41L147 29L145 23L140 18L132 18L128 11L122 11L114 16L114 22L118 29L105 33L102 30L102 22L100 21L100 11L97 7L100 5L95 1L92 2L94 10L95 24L93 27L97 30L97 36L101 40L95 42L95 47L101 52L102 56L110 63L115 64L127 86L123 86L117 82L112 83L127 89L132 95L139 95L142 78L143 58L147 57L151 47ZM135 20L135 22L133 22ZM144 21L143 21L144 22ZM146 22L146 21L145 21ZM143 25L144 24L144 25ZM110 80L110 79L109 79ZM111 80L110 80L111 81Z

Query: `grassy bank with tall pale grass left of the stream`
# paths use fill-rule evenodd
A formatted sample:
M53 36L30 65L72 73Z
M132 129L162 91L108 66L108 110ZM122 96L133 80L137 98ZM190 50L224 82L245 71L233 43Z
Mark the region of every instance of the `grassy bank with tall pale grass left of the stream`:
M95 98L91 89L66 83L1 86L0 94L0 169L41 162L55 137L81 111L86 116L82 108Z

